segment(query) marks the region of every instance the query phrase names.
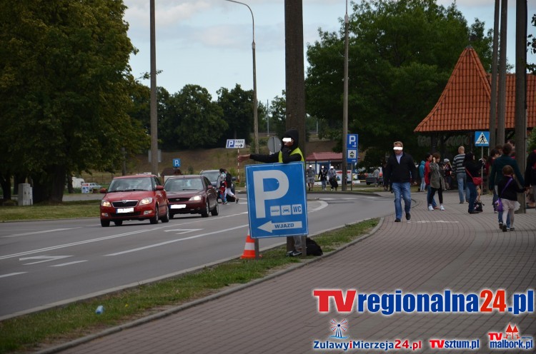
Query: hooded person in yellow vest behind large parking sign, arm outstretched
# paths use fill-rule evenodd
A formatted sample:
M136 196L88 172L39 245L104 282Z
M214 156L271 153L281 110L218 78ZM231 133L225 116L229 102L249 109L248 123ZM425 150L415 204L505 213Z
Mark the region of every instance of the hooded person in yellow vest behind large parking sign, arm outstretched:
M303 153L298 147L299 133L295 129L290 129L283 134L283 147L278 153L271 153L269 155L262 155L259 153L247 153L246 155L238 156L238 162L246 161L251 158L254 161L264 163L289 163L294 161L304 161ZM305 182L305 181L304 181ZM287 253L289 256L300 256L305 248L302 247L302 238L300 236L293 236L294 238L294 251Z

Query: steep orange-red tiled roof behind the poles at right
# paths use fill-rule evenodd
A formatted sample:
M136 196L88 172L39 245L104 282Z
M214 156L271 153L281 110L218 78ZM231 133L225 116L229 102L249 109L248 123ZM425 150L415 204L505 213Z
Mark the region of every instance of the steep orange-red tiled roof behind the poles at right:
M490 126L491 76L475 49L467 47L432 111L415 132L487 131ZM505 128L515 128L515 74L506 76ZM536 126L536 76L527 75L527 128Z

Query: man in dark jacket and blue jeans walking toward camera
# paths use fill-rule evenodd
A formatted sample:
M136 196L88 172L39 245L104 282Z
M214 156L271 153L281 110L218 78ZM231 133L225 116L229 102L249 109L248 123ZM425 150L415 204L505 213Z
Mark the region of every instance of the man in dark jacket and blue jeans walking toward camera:
M394 153L389 156L387 165L384 168L383 184L385 187L391 184L392 192L394 193L394 222L399 223L402 218L402 201L404 198L404 211L406 220L411 218L412 196L411 183L417 178L417 168L415 162L409 153L403 152L404 145L402 141L393 143Z

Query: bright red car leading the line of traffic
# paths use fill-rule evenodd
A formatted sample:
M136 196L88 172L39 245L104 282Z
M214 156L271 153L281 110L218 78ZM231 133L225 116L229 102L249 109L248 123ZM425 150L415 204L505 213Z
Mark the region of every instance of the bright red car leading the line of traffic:
M114 178L109 188L101 189L101 226L113 221L121 226L125 220L147 220L151 223L169 221L169 202L164 186L154 175L134 175Z

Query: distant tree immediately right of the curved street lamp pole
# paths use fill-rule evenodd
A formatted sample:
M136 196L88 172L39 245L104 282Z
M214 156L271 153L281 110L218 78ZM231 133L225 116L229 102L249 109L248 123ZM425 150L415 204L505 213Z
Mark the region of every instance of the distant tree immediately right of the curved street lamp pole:
M230 90L218 90L218 105L222 108L228 128L222 130L218 146L225 146L227 139L245 139L251 143L253 131L253 91L244 91L237 84ZM259 111L257 111L257 115Z

